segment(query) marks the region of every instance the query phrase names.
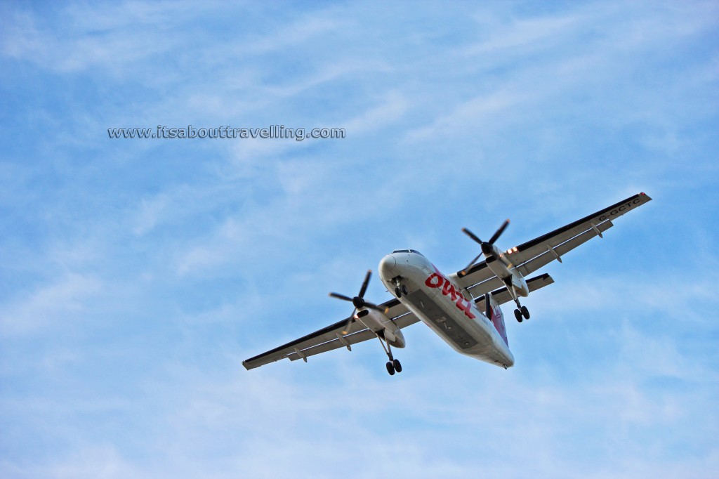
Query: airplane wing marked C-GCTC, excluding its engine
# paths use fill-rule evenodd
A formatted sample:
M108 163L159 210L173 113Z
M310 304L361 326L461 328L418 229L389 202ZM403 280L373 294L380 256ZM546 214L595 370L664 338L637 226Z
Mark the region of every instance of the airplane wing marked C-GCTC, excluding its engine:
M595 236L602 237L603 232L613 226L611 220L638 208L647 201L651 201L651 198L644 193L630 196L617 204L577 219L576 222L510 248L505 255L519 273L527 276L553 260L559 260L561 263L565 253ZM459 271L457 278L459 286L467 288L475 298L504 286L485 261L472 266L467 273Z

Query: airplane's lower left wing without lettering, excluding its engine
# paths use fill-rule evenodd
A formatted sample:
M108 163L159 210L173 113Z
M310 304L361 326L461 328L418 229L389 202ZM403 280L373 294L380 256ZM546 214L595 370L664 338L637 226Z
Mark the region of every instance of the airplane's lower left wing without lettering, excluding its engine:
M401 304L397 299L391 299L379 306L388 308L385 316L394 321L400 328L408 327L419 321L419 319L413 313L409 312L406 306ZM286 345L275 347L274 350L250 357L248 360L242 361L242 365L245 369L250 370L259 368L270 362L283 360L285 357L288 357L291 361L298 359L306 361L308 356L336 350L339 347L347 347L347 345L354 345L358 342L367 341L367 339L374 339L376 337L375 333L367 329L360 321L352 321L347 334L342 334L342 330L347 326L348 320L349 318L342 319L342 321L330 324L328 327L322 328L319 331L290 341Z

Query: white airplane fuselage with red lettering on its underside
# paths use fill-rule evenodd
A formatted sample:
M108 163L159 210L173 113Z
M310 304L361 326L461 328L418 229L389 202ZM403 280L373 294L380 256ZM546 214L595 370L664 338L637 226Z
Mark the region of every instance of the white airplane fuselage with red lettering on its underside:
M451 275L443 275L418 252L393 252L380 262L380 278L388 291L403 286L398 298L457 352L503 368L514 356L494 324L460 291Z

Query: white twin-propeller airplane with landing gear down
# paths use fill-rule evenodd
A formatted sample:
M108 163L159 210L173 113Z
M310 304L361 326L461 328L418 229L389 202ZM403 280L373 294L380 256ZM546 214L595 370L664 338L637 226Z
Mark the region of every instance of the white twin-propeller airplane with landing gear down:
M460 354L510 368L514 356L500 305L513 301L516 320L529 319L529 311L519 298L554 280L546 273L533 278L528 275L551 261L562 263L564 254L593 237L602 238L613 227L612 220L648 201L649 196L638 193L506 251L495 242L509 220L488 241L463 228L480 244L481 252L466 268L446 275L417 250L394 250L380 261L379 273L395 298L378 305L367 301L365 293L372 275L367 271L357 296L329 293L352 303L354 309L348 318L244 360L242 365L250 370L285 358L307 362L310 356L340 347L352 351L352 345L376 337L388 357L387 372L394 375L402 371L402 365L393 356L392 347L405 347L402 329L421 321ZM477 263L481 256L485 259Z

